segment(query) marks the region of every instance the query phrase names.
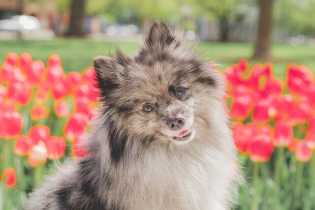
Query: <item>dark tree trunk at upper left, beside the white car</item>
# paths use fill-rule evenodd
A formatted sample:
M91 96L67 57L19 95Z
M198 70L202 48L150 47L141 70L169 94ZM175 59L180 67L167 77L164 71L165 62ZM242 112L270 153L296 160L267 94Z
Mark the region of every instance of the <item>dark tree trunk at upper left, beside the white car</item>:
M85 0L71 0L71 16L66 36L84 36Z

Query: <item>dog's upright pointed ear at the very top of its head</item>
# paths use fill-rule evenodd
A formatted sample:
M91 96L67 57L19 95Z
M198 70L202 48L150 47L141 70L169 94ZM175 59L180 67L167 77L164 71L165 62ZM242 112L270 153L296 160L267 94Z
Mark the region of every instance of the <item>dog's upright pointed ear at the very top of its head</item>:
M156 21L151 27L145 43L149 50L157 50L167 47L174 41L175 38L169 28L165 24Z

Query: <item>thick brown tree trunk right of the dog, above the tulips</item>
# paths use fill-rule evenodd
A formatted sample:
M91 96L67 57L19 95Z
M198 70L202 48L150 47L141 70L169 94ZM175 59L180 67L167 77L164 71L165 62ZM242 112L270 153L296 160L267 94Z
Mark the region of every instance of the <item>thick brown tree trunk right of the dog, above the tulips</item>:
M254 59L270 59L273 0L260 0Z

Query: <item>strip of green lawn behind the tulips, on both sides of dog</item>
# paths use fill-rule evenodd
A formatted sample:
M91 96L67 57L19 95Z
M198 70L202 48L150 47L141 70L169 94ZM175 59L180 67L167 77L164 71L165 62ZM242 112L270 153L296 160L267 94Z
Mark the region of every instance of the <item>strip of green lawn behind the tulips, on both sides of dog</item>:
M240 58L250 59L253 45L251 43L213 43L199 42L198 49L203 51L203 58L216 60L223 69L230 63ZM136 42L106 42L88 39L54 39L52 41L14 40L0 41L0 60L8 52L29 52L33 59L46 61L48 56L57 53L62 58L63 68L68 71L82 71L86 66L91 65L93 57L97 55L108 55L120 48L127 55L135 54L139 45ZM284 77L284 70L287 63L295 62L303 64L315 70L315 47L290 46L286 44L272 45L275 74ZM264 62L264 60L250 60Z

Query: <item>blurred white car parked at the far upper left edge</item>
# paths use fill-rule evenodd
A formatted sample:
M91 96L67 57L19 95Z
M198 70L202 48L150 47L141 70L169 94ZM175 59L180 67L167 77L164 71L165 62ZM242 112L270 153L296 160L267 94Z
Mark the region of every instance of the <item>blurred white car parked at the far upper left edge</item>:
M15 15L11 19L0 20L0 30L6 31L38 31L40 22L33 16Z

